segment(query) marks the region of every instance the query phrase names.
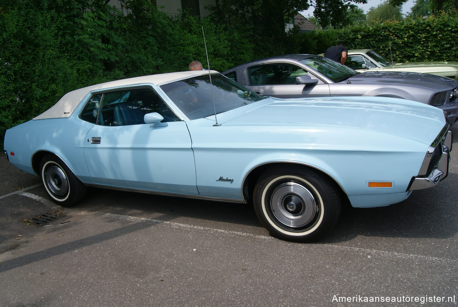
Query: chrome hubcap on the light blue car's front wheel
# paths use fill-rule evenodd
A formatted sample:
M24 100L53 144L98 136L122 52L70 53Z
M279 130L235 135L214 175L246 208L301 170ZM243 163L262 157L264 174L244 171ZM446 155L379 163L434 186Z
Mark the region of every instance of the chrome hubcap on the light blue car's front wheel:
M293 181L280 184L273 190L270 206L278 222L292 228L309 224L318 210L310 190Z

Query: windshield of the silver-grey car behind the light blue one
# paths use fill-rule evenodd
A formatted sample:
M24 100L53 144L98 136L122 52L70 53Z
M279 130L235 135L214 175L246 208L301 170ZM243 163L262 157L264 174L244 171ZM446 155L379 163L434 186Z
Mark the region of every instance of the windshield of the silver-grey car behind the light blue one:
M333 80L333 82L344 81L358 73L349 67L323 56L311 56L300 60L300 62L322 73L323 76Z

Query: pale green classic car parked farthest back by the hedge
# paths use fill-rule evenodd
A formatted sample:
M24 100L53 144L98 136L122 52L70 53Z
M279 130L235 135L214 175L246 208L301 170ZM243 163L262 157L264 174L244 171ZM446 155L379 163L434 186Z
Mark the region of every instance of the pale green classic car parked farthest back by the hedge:
M358 72L412 72L431 73L458 80L458 62L408 62L395 63L370 49L348 50L345 66Z

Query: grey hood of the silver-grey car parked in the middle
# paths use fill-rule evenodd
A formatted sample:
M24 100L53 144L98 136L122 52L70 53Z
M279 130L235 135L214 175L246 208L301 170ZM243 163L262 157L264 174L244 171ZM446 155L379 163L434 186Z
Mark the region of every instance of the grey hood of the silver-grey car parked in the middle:
M351 83L379 83L379 84L405 84L415 85L425 88L444 91L454 89L458 82L453 79L445 78L428 73L406 73L406 72L365 72L358 73L343 82Z

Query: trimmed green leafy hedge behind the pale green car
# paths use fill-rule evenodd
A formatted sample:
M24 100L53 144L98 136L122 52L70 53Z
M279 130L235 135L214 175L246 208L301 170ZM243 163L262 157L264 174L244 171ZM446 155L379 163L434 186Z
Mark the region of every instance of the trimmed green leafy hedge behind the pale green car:
M322 42L316 48L303 45L302 52L320 54L343 41L348 49L373 49L396 62L458 61L458 17L441 14L426 18L385 21L339 30L306 34Z

